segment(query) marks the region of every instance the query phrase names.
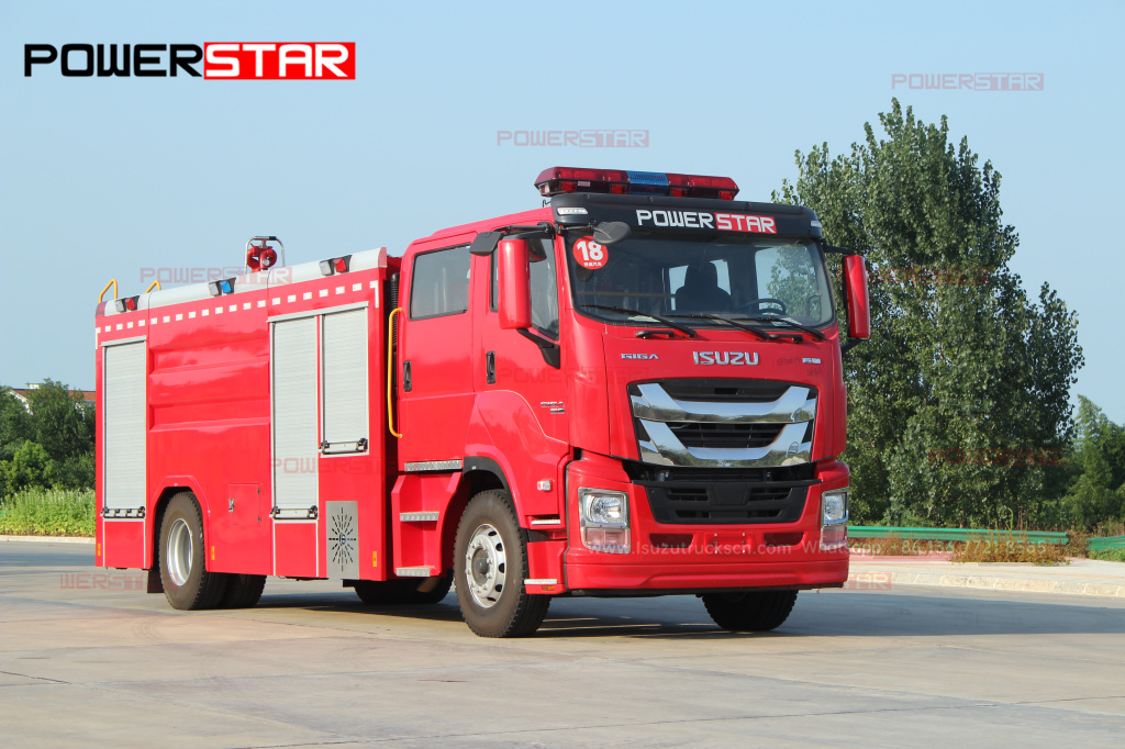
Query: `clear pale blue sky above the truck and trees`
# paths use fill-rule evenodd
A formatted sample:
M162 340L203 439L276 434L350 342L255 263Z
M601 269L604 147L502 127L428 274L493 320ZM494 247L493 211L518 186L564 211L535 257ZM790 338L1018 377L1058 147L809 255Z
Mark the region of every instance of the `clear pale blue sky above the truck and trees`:
M892 97L1002 174L1030 298L1079 315L1073 394L1125 422L1122 2L30 2L0 0L0 383L92 388L93 309L194 269L289 263L540 205L554 165L732 177L768 200L794 153L863 138ZM27 44L353 42L356 80L24 74ZM164 57L166 60L166 55ZM79 62L81 57L79 57ZM1036 73L1041 90L911 89ZM915 79L916 81L919 79ZM646 147L502 132L647 130ZM513 138L514 139L514 138ZM878 331L875 332L878 335Z

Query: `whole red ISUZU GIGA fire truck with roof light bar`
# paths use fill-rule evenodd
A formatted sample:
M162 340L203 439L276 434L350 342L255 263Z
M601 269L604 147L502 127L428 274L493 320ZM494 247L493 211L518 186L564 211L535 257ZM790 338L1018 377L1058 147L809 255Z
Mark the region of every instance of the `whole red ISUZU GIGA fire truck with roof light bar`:
M371 605L456 586L483 637L554 596L691 594L770 630L840 587L863 260L728 178L536 187L402 258L286 265L255 237L242 276L99 304L97 563L184 610L271 575Z

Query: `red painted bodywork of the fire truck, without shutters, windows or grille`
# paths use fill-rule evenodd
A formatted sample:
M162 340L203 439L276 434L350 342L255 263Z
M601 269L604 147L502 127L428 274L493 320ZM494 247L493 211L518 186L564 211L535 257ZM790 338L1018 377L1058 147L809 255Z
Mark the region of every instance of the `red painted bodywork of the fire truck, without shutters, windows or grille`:
M452 566L460 511L476 490L497 486L498 477L512 494L521 526L530 532L533 581L528 589L533 593L626 595L842 585L847 579L846 549L820 551L817 545L820 493L848 484L847 468L835 459L845 446L845 390L835 324L824 331L826 340L799 344L757 341L726 327L700 330L695 340L639 339L636 327L601 324L573 309L566 247L559 237L554 244L558 369L544 361L534 342L505 328L500 312L490 308L489 256L470 256L467 312L412 318L407 300L417 255L467 245L480 232L552 218L551 208L541 208L457 227L414 242L402 260L379 251L377 259L369 258L357 268L360 255L354 255L351 270L327 277L308 267L274 268L236 279L235 294L210 297L191 287L196 291L141 296L136 312L116 314L112 303L100 306L99 394L105 385L107 344L144 336L147 461L143 517L104 516L105 450L107 440L116 435L106 433L99 400L97 563L151 568L163 503L177 491L189 490L204 511L212 570L331 577L326 503L354 502L356 578L382 580L399 574L396 570L417 576L418 569L439 575ZM858 271L848 268L850 273L862 273L862 267ZM387 428L386 335L388 314L396 306L388 301L390 279L399 269L397 306L404 313L397 317L393 366L395 426L403 436L395 439ZM177 301L179 297L186 300ZM271 319L360 304L366 305L368 324L369 445L362 453L315 458L318 512L304 520L274 518L274 469L299 472L312 471L313 466L276 454L273 449L278 415L271 408ZM217 308L224 312L217 314ZM819 482L809 487L804 511L795 521L658 523L646 489L627 475L622 460L641 458L628 386L699 378L692 352L700 350L753 352L757 366L744 368L753 369L750 377L809 385L820 394L811 454ZM652 351L659 352L658 360L622 355ZM822 363L802 363L808 358ZM403 387L406 362L410 391ZM748 376L706 373L735 374ZM488 381L492 377L494 382ZM318 408L323 407L322 403ZM456 461L458 466L407 470L428 461ZM485 464L492 468L479 468ZM595 552L583 545L579 486L629 495L629 553ZM404 521L404 514L425 520ZM796 542L773 545L767 534L788 534ZM691 541L686 548L657 542L669 535Z

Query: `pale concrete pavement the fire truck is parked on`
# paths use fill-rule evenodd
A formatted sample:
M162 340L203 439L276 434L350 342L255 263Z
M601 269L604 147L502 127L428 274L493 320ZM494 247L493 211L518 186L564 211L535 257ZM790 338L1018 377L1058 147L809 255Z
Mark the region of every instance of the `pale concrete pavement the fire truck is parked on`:
M555 602L474 637L452 597L366 607L271 578L174 612L82 544L0 543L10 746L1117 747L1125 601L952 587L802 593L731 634L694 597ZM98 575L117 574L99 585ZM140 576L137 576L140 577ZM104 580L105 581L105 580Z

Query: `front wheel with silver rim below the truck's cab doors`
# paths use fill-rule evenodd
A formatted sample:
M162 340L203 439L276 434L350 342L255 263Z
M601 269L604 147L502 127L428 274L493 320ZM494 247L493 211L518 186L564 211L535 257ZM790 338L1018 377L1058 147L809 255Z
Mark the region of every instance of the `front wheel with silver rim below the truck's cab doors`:
M457 526L453 579L461 617L483 638L519 638L542 624L550 596L530 595L528 549L511 495L490 489L472 497Z

